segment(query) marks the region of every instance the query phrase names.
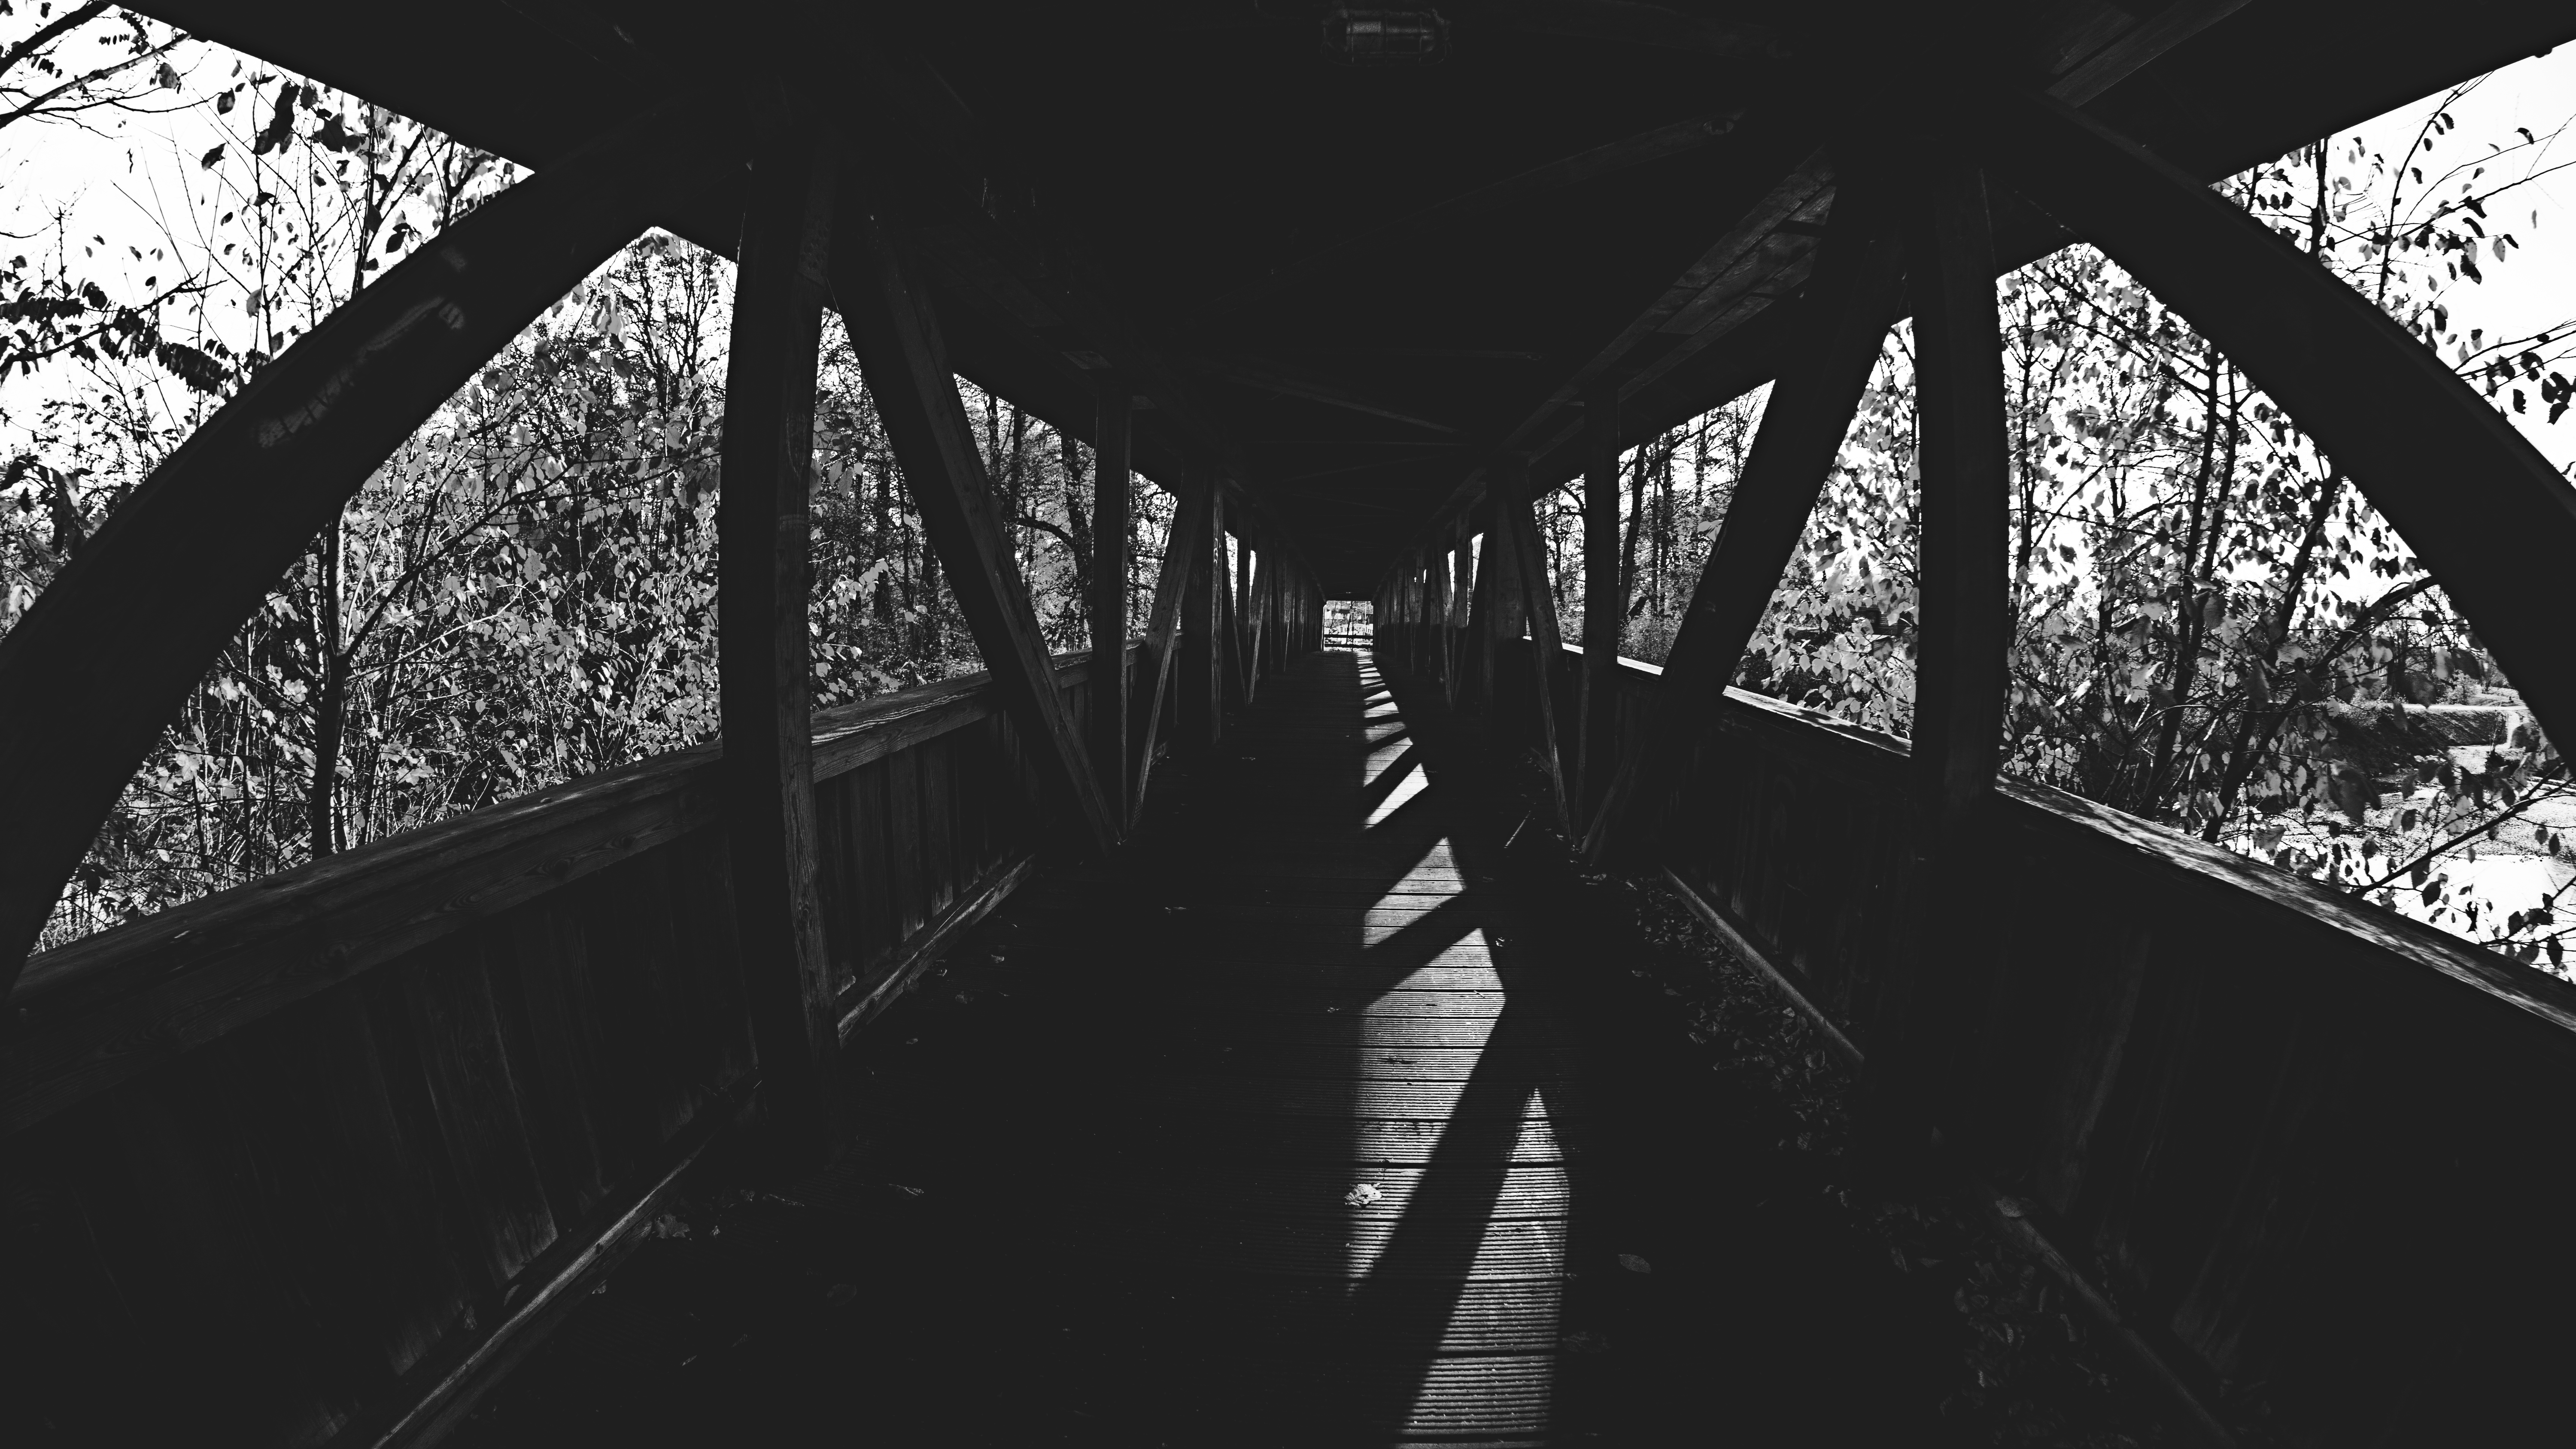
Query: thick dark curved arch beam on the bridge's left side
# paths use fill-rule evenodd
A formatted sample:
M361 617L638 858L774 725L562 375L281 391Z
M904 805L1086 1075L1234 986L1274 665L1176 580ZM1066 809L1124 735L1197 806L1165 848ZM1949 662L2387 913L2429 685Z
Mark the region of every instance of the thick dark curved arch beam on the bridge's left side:
M474 368L672 203L739 170L703 100L513 185L260 371L0 638L0 996L224 641Z

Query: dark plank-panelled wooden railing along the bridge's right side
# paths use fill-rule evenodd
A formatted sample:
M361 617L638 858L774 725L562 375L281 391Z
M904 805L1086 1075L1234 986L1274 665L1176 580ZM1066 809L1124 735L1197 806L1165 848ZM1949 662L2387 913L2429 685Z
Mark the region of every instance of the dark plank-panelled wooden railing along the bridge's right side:
M1633 746L1659 677L1620 685ZM1868 1053L1904 741L1728 690L1659 788L1667 878ZM1994 1223L2169 1387L2285 1444L2555 1416L2576 986L2061 790L2007 782L1996 839L1994 986L1942 1125Z

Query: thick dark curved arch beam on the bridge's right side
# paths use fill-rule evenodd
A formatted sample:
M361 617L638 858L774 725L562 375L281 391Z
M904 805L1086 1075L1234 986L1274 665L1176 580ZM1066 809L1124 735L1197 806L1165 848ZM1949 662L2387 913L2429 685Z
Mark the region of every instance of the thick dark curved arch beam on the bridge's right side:
M2576 486L2362 293L2146 147L2040 95L1976 118L1976 144L2079 237L2218 342L2396 525L2576 749Z

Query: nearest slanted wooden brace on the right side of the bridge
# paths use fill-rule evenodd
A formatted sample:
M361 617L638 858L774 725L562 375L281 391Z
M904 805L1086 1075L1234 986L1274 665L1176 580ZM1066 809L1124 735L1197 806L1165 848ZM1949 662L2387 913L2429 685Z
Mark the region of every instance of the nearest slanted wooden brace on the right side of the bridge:
M1610 862L1659 836L1664 782L1682 770L1695 731L1726 697L1726 679L1744 659L1744 643L1798 551L1860 394L1870 386L1888 337L1886 319L1899 304L1901 252L1886 190L1860 178L1844 180L1816 275L1798 304L1801 350L1762 407L1762 432L1754 435L1726 525L1672 638L1646 739L1620 759L1592 821L1584 842L1592 862Z

